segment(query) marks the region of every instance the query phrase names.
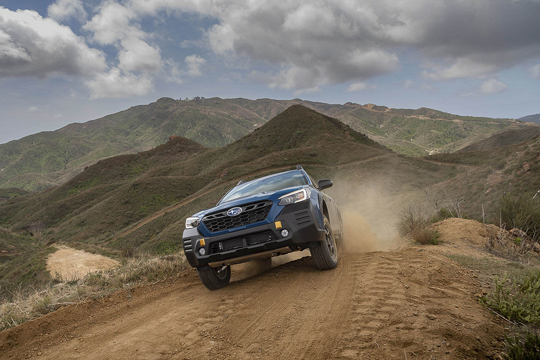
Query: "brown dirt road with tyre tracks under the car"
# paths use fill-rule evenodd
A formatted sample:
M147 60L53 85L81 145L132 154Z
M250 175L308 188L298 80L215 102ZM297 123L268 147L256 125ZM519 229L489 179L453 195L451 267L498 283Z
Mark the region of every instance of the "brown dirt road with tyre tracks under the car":
M0 358L498 358L502 327L467 270L429 249L309 257L218 291L170 283L62 308L0 333Z

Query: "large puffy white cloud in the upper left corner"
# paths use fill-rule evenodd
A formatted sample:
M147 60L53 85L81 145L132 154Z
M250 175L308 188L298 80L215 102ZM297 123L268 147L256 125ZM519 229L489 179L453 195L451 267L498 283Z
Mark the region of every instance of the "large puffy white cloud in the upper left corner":
M104 54L36 11L0 6L0 76L92 76L106 69Z

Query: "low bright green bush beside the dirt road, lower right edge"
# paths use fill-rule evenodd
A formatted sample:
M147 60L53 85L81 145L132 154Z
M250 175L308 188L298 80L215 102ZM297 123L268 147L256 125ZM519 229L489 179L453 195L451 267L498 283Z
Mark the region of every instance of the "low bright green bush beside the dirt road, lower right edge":
M483 299L485 305L511 321L540 326L540 271L522 281L505 275L495 278L495 289Z

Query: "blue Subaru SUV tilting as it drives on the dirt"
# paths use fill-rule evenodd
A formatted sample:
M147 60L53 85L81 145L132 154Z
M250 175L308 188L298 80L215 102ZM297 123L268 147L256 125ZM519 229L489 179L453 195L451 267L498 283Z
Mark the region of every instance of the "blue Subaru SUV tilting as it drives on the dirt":
M269 259L309 249L321 270L338 265L336 237L342 235L338 206L324 189L296 170L241 180L218 205L186 219L184 253L210 290L227 286L231 264Z

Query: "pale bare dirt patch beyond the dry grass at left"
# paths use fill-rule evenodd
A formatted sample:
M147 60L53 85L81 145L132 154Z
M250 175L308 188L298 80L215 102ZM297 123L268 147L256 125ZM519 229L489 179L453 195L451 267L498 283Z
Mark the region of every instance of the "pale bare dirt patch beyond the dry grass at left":
M47 259L47 270L52 277L64 280L80 279L94 271L110 269L118 266L118 261L109 257L86 253L80 250L61 246Z

